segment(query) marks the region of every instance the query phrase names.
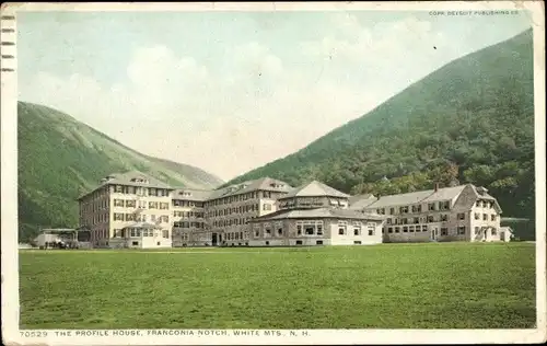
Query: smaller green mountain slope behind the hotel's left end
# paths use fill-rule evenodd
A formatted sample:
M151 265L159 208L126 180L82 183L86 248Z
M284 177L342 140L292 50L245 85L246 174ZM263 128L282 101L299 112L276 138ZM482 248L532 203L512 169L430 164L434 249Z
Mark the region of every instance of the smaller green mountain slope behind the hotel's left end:
M77 198L109 173L138 170L165 183L214 188L198 168L139 153L56 109L18 103L20 239L78 226Z

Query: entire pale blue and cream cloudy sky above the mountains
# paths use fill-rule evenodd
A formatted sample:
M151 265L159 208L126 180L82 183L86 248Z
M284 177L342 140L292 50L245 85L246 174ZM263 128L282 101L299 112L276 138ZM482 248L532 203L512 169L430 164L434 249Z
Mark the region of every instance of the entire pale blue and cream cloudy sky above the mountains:
M20 12L19 99L228 181L529 26L525 12Z

